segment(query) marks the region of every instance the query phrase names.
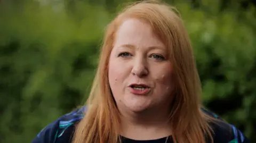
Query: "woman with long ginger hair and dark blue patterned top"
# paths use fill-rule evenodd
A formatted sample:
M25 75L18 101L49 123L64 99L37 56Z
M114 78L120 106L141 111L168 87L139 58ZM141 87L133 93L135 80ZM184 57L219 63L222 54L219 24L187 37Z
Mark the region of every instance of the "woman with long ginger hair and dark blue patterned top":
M106 31L87 106L33 143L248 142L204 110L193 49L173 7L134 3Z

